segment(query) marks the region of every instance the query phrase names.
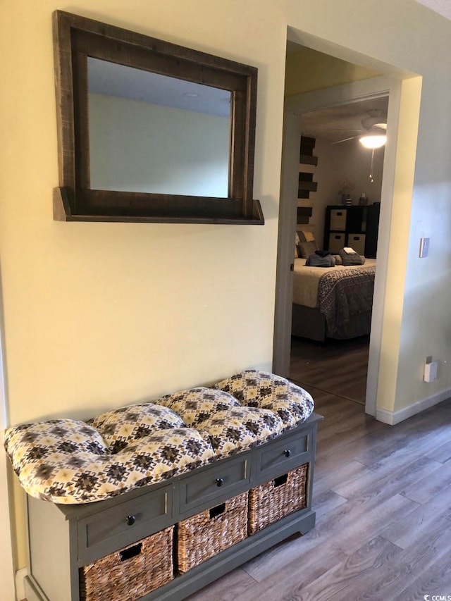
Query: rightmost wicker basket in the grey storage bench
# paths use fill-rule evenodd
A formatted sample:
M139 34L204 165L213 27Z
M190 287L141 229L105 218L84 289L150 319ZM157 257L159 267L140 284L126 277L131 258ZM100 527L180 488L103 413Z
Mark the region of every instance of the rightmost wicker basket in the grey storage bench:
M249 490L249 534L307 507L307 466L304 464Z

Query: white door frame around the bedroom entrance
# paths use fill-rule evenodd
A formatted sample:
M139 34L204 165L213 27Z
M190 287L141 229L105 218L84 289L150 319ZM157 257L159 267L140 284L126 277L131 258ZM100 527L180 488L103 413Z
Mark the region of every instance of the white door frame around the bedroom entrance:
M400 113L402 80L382 75L351 84L307 92L285 101L282 178L280 190L278 255L276 273L276 309L274 323L273 372L287 377L290 371L292 320L293 246L296 231L297 179L302 113L350 104L364 99L388 95L387 130L381 191L381 215L378 235L378 263L374 282L373 314L369 343L368 378L366 382L367 414L376 416L378 372L381 358L383 306L388 268L390 216L393 206L397 125Z

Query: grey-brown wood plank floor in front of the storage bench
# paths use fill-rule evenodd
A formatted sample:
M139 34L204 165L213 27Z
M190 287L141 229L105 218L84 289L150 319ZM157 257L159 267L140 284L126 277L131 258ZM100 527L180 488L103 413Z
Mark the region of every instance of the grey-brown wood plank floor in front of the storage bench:
M355 402L309 390L324 416L312 499L316 528L262 553L190 601L451 595L451 399L386 426Z

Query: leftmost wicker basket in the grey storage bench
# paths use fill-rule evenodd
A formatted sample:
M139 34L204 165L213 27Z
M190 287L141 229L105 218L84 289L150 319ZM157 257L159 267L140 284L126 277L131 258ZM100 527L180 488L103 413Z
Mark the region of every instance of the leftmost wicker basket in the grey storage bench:
M80 601L135 601L171 581L173 529L80 568Z

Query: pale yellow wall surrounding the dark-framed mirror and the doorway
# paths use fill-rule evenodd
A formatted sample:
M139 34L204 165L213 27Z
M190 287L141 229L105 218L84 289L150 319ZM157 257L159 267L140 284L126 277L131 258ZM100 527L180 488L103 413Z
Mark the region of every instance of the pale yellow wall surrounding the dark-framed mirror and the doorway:
M254 196L264 227L53 221L56 8L259 68ZM405 266L406 295L390 300L400 323L385 345L400 352L387 388L396 398L386 401L403 407L451 388L451 66L438 60L450 56L451 24L413 0L4 0L0 10L0 260L11 423L82 418L245 367L271 368L288 25L301 38L307 32L424 76L412 216L409 222L407 191L407 236L390 240ZM419 261L421 232L431 235L431 254ZM449 360L438 382L425 385L421 365L431 354ZM18 518L18 567L26 563L24 531Z

